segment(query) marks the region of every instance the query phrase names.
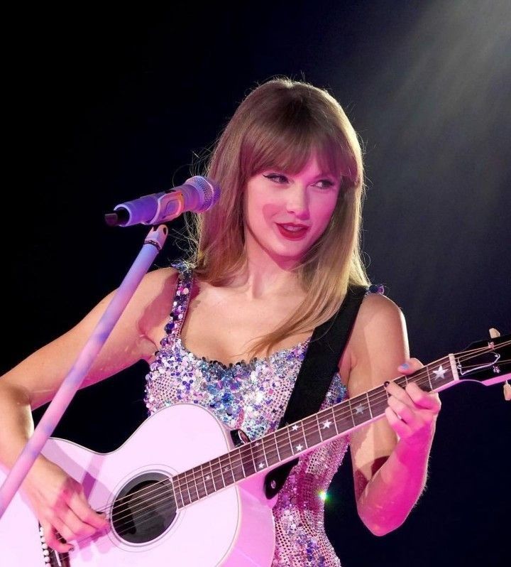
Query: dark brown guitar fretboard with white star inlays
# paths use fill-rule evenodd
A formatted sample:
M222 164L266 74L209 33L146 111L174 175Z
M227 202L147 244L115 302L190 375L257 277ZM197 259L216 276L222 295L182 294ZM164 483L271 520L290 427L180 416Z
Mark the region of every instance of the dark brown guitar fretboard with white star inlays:
M402 387L415 382L427 392L432 392L448 387L457 379L454 357L448 355L414 374L400 376L394 382ZM387 389L383 385L378 386L175 475L170 481L175 503L178 508L185 507L235 482L334 441L382 417L388 406L387 400Z

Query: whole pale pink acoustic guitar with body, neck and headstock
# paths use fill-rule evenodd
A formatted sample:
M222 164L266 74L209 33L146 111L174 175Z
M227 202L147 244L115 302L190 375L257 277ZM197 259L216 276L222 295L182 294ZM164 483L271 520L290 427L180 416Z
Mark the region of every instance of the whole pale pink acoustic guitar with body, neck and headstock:
M397 384L439 392L461 380L511 376L511 335L473 343ZM84 485L109 531L57 554L41 541L21 492L0 520L2 564L50 566L270 566L275 534L263 482L269 470L383 417L383 386L233 448L231 435L194 404L150 416L120 448L101 454L51 438L44 455ZM0 484L5 475L0 472Z

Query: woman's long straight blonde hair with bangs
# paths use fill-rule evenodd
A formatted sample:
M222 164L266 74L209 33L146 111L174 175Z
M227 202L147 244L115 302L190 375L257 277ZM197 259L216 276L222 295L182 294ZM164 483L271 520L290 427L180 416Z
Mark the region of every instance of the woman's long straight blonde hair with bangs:
M194 243L189 263L211 285L229 283L245 265L243 191L248 179L278 168L298 173L310 156L341 178L328 227L295 271L307 298L268 335L253 354L270 352L284 338L324 323L339 310L348 286L368 285L361 261L360 228L364 193L358 136L339 102L307 82L275 78L243 99L214 144L205 175L219 183L211 210L192 215Z

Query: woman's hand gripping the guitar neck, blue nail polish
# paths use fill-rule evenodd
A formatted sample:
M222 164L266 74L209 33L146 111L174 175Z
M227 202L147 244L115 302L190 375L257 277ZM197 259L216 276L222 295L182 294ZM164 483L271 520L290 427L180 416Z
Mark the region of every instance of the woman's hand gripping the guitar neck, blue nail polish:
M423 366L417 358L411 358L399 367L399 371L401 374L413 374ZM400 441L414 448L429 446L441 406L438 394L425 392L413 382L405 388L389 382L387 392L385 416Z

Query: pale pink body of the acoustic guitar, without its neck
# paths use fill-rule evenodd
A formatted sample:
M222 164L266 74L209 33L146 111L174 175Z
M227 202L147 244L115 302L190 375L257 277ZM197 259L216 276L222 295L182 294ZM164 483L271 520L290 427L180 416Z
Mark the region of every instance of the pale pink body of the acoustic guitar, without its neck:
M112 453L95 453L50 438L43 454L84 486L94 509L114 510L109 531L72 542L75 551L69 554L70 564L270 566L275 531L273 502L263 492L268 471L182 508L172 506L172 497L169 502L151 495L151 485L161 485L163 480L231 448L231 436L223 424L192 404L158 411ZM0 485L2 482L4 475L0 473ZM143 487L142 499L137 491ZM129 506L118 504L116 509L116 502L129 502ZM38 521L19 491L0 520L0 544L5 565L48 565Z

